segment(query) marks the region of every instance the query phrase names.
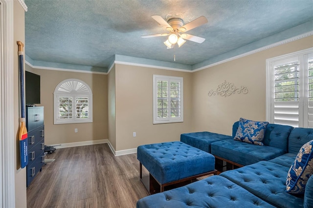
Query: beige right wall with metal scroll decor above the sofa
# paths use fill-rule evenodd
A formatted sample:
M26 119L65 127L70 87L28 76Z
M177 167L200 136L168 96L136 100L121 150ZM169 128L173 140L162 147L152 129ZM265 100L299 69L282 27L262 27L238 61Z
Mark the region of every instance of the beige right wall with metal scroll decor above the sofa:
M234 61L193 73L192 131L212 131L231 135L240 117L266 119L266 59L313 47L313 36L270 48ZM248 94L229 97L207 93L224 81L246 86Z

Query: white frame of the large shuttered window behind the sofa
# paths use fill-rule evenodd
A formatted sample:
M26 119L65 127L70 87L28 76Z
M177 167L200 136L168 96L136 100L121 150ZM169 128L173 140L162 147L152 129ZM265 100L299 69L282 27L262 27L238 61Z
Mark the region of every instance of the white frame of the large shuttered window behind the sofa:
M273 84L272 84L272 80L273 80L273 70L272 70L272 64L275 62L275 64L279 64L279 62L282 62L283 60L286 59L294 59L297 56L303 56L305 54L310 54L313 52L313 48L308 48L308 49L304 49L301 51L296 51L293 53L289 53L289 54L285 54L282 56L278 56L278 57L274 57L274 58L270 58L266 60L266 120L269 121L270 123L273 123L272 120L272 114L274 111L274 106L272 105L273 99L274 99L274 93L273 93ZM298 59L300 64L303 64L303 59ZM301 77L299 77L299 79L301 79ZM299 101L302 102L302 101ZM303 126L303 114L300 115L299 113L299 126L302 127Z

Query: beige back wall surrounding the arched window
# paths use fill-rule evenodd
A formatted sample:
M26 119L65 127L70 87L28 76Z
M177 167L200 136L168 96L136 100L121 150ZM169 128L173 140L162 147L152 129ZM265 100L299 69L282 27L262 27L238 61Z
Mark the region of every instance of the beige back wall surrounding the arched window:
M41 76L41 104L37 106L45 107L45 145L108 139L107 75L33 69L27 64L25 69ZM53 92L66 79L82 80L91 88L92 123L53 124ZM74 128L78 133L74 133Z

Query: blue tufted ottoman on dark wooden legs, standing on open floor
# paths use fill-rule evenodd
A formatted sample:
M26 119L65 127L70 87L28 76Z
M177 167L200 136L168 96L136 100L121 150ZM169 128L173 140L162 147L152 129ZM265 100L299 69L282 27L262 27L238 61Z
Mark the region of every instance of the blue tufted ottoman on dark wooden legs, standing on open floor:
M208 174L217 174L213 155L182 142L138 146L137 159L140 162L142 182L142 165L149 171L150 187L146 188L151 194L162 192L164 187L173 184L191 181ZM158 184L159 191L154 182ZM144 182L143 184L145 185Z

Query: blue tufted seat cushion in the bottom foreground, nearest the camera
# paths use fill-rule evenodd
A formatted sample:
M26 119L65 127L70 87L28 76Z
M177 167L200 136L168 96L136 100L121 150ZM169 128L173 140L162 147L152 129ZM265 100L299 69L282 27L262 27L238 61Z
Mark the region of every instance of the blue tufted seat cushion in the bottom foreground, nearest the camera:
M184 187L137 201L137 208L274 208L221 176L210 176Z

